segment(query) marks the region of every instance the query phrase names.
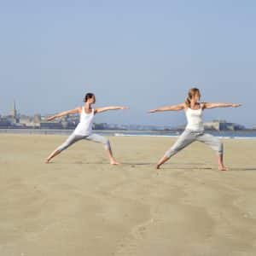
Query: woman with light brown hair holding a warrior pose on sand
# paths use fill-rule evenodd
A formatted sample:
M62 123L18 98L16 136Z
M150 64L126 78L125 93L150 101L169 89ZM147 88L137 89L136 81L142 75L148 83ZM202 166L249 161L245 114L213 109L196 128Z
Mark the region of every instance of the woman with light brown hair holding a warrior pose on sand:
M200 90L192 88L189 90L189 96L186 101L176 106L156 108L149 111L149 113L155 113L160 111L179 111L184 110L188 119L188 125L186 126L183 134L178 137L177 142L174 143L172 148L166 151L166 154L159 160L156 168L160 169L160 166L169 160L172 155L177 154L178 151L189 146L189 144L195 141L205 143L215 150L218 154L218 170L227 171L224 166L224 149L223 143L221 143L217 137L213 137L210 134L204 132L204 125L202 121L202 114L204 109L208 108L226 108L240 107L241 104L233 103L207 103L199 102L201 99Z

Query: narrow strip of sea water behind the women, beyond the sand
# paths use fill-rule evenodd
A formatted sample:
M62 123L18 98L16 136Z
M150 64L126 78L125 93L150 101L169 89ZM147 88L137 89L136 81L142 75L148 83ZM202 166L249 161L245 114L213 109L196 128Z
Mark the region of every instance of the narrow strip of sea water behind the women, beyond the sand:
M54 129L0 129L0 134L38 134L38 135L69 135L73 130ZM115 131L94 130L108 137L178 137L183 131ZM256 131L206 131L216 137L227 139L256 139Z

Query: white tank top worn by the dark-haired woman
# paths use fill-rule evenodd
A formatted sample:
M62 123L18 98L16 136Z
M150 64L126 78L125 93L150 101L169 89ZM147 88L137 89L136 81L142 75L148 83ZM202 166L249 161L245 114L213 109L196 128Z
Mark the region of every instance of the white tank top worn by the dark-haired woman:
M85 113L84 107L82 107L80 122L79 125L76 127L74 134L82 136L90 135L92 133L94 114L94 108L92 108L91 113Z

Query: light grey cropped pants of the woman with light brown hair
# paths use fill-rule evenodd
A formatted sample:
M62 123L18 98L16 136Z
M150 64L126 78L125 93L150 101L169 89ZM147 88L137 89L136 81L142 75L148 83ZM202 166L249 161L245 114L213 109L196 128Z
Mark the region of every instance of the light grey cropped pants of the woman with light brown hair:
M178 151L189 146L195 141L205 143L210 146L218 154L223 154L223 143L217 137L207 134L204 131L190 131L185 130L183 134L178 137L177 142L174 143L172 148L166 151L165 156L170 158L172 155L177 154Z

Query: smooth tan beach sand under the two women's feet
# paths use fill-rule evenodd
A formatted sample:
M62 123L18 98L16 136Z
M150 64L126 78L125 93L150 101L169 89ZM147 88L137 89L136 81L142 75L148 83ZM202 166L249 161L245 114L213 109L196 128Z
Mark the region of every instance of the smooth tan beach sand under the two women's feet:
M228 172L194 143L160 171L168 137L80 142L0 135L0 255L256 255L256 140L224 140Z

